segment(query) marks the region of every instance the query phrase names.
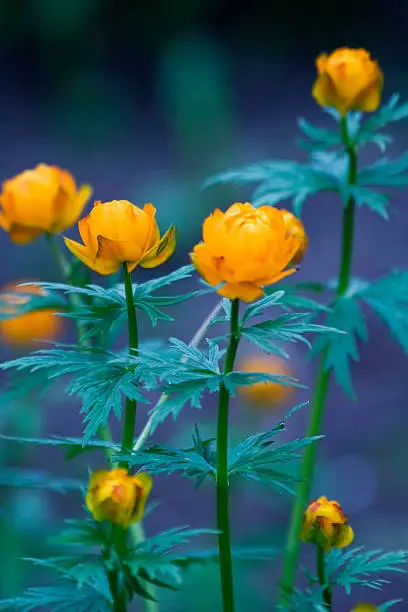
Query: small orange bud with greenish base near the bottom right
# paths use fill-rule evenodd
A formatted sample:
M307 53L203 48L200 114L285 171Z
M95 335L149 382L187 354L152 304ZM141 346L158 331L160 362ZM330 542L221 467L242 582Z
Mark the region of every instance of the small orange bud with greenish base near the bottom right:
M331 548L344 548L351 544L354 533L340 504L319 497L304 514L300 537L303 542L315 542L329 552Z

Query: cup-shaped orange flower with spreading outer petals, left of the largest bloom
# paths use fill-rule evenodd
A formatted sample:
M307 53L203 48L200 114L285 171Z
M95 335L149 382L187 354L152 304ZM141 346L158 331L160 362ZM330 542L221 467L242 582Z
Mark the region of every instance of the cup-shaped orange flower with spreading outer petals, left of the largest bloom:
M156 209L143 209L127 200L95 202L90 214L78 223L84 244L65 238L65 244L78 259L99 274L113 274L122 263L131 272L137 265L155 268L176 248L176 230L171 226L160 238Z

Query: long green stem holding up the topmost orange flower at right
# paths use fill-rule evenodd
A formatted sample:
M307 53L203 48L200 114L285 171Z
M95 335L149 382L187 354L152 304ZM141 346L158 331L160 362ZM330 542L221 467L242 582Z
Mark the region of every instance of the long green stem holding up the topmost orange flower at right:
M345 151L348 155L348 186L356 184L357 180L357 155L347 129L347 120L341 120L341 134ZM351 263L353 256L354 238L354 213L355 201L352 195L347 196L343 212L343 234L341 246L341 263L338 275L338 284L334 302L347 293L350 283ZM331 372L325 368L325 352L323 352L316 379L314 399L310 412L307 436L313 437L320 435L322 431L323 417L326 405L327 392L329 390ZM286 542L286 553L283 564L282 594L281 603L284 602L285 594L293 590L296 569L298 566L300 539L299 534L302 527L303 511L307 504L312 486L314 467L316 460L316 448L314 444L308 446L303 456L300 468L300 482L297 490L297 497L292 506L292 513L289 523L288 537Z

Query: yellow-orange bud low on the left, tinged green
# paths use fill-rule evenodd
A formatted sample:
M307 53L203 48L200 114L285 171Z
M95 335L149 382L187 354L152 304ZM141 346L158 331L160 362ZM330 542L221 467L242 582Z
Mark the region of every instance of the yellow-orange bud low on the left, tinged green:
M109 521L127 529L143 516L152 489L148 474L135 476L123 468L94 472L86 493L86 506L96 521Z

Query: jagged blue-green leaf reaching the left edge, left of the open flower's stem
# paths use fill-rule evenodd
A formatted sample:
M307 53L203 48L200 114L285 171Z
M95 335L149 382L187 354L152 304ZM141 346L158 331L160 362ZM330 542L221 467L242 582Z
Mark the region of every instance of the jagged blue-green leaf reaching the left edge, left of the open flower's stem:
M110 413L120 420L123 395L148 403L138 389L138 380L129 369L124 354L83 346L56 345L31 355L3 363L2 370L35 372L45 370L48 378L70 375L67 393L82 400L85 415L84 442L106 425Z

